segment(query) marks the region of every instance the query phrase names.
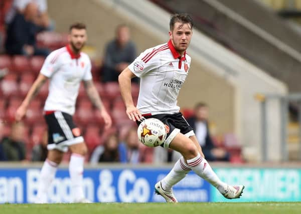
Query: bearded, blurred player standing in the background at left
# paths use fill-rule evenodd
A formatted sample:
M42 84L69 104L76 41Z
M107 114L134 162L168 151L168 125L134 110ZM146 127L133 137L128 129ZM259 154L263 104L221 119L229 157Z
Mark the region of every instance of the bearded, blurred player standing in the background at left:
M20 121L26 114L30 101L49 79L49 94L44 106L45 120L48 125L47 148L49 151L41 170L37 193L38 203L48 201L48 187L55 177L64 152L67 152L68 148L72 152L69 173L74 202L89 202L84 197L83 192L84 156L87 154L87 146L79 128L75 126L72 120L82 80L89 99L101 112L105 129L109 128L112 122L93 84L90 59L87 54L81 52L86 40L87 33L84 24L75 23L70 26L69 44L49 54L38 78L16 112L16 120Z

